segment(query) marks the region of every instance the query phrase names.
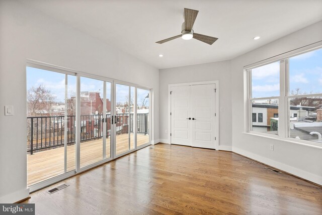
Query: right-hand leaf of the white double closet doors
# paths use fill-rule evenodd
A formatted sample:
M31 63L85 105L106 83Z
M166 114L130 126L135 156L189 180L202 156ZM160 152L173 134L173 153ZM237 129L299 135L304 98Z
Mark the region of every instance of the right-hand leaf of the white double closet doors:
M215 149L216 84L191 86L191 139L193 147Z

